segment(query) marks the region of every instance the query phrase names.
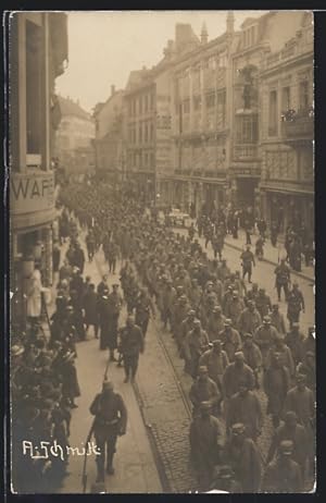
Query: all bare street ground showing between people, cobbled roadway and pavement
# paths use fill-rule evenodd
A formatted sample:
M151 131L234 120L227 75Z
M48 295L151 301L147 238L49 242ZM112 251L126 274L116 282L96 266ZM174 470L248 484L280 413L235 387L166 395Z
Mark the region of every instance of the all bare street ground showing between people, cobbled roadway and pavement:
M185 230L176 230L184 234ZM204 245L204 240L199 240ZM85 247L85 243L83 241ZM65 246L63 246L65 249ZM85 249L86 252L86 249ZM208 247L208 255L213 252ZM225 246L224 257L231 270L239 269L240 252ZM120 271L120 262L116 271ZM253 281L266 287L272 302L276 302L276 291L271 290L268 277L273 274L274 266L265 261L258 262ZM102 250L98 252L91 263L87 262L85 275L98 284L101 277L108 273ZM109 283L118 281L118 274L110 274ZM298 279L302 290L306 309L302 315L302 328L306 330L314 322L314 296L309 280ZM280 303L280 310L286 315L286 304ZM126 309L120 317L120 326L126 318ZM78 408L73 410L72 445L80 445L85 441L91 424L88 412L90 403L101 389L103 372L106 365L106 352L99 351L99 341L88 334L86 342L77 345L76 360L82 396ZM155 368L153 372L152 369ZM148 377L151 376L149 379ZM176 344L171 333L164 330L160 320L151 320L146 339L146 351L140 357L139 369L134 387L123 382L123 370L116 364L109 365L109 378L126 402L129 415L127 434L118 440L115 461L116 475L105 480L108 492L192 492L197 480L189 462L189 427L191 421L191 404L188 397L192 384L191 377L184 371L184 360L180 359ZM264 427L259 438L259 447L265 458L273 426L266 416L266 396L262 390L256 394L264 412ZM83 459L71 458L70 476L66 477L61 492L79 492L82 488ZM88 487L96 479L96 464L88 459ZM130 490L129 490L130 488Z

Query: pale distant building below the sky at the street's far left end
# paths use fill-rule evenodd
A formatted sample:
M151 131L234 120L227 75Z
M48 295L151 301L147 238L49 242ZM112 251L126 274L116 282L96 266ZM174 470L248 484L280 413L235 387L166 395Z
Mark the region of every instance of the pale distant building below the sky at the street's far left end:
M95 171L95 122L79 101L58 97L61 121L55 135L55 158L67 176Z

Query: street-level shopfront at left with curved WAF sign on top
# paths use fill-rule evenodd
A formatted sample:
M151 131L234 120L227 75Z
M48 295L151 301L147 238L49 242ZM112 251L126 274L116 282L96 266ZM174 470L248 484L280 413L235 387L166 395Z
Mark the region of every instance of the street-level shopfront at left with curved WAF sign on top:
M43 286L52 284L52 241L55 236L54 176L52 172L12 173L10 219L10 287L15 308L24 311L26 284L35 267ZM23 323L24 315L15 316Z

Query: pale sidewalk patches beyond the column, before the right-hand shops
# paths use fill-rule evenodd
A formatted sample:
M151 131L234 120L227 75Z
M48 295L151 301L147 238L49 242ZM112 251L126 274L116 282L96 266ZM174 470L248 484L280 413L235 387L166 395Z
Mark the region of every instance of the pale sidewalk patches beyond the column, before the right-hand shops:
M235 240L230 234L227 234L225 237L225 244L227 246L230 246L235 249L238 249L239 252L242 252L246 249L246 232L243 230L239 230L238 232L238 240ZM255 242L258 240L258 234L252 234L251 235L251 242L252 242L252 250L254 253L254 247L255 247ZM277 266L279 263L279 260L281 258L285 258L287 256L286 249L284 247L283 243L277 243L277 246L274 247L271 244L271 240L266 240L265 245L264 245L264 261L269 262L272 265ZM302 263L302 271L297 272L291 269L291 274L292 275L298 275L299 278L302 278L308 281L314 281L315 280L315 274L314 274L314 268L312 266L305 267L304 263Z

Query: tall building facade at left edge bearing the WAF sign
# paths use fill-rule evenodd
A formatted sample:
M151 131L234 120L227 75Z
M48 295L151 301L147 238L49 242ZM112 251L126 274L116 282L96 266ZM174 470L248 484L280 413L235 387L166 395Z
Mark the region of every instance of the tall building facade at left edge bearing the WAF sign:
M13 13L10 49L12 291L21 289L36 262L43 284L52 282L55 201L51 159L60 121L54 81L64 72L66 62L66 14Z

